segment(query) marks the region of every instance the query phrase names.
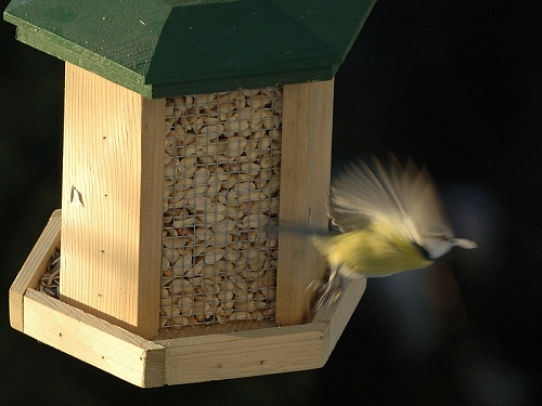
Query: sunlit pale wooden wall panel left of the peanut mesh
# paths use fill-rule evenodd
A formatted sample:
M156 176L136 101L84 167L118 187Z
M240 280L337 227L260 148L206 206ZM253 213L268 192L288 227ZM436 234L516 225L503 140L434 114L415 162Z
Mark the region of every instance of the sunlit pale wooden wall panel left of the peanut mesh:
M61 299L158 332L165 100L66 64Z

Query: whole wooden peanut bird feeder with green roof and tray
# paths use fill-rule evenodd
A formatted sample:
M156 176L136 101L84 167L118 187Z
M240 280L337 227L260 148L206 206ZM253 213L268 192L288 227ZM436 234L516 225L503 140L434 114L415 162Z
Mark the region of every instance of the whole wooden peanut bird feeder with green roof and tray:
M12 1L66 62L62 210L12 326L140 387L323 366L365 281L312 314L324 259L269 225L327 227L333 78L373 4Z

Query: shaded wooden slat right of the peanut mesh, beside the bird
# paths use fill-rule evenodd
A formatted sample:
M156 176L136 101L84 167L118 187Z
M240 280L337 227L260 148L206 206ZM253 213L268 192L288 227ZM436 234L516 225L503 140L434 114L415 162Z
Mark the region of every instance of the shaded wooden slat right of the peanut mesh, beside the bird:
M281 160L281 224L326 230L330 191L334 81L284 87ZM281 233L276 280L276 323L301 324L325 273L325 261L307 235Z

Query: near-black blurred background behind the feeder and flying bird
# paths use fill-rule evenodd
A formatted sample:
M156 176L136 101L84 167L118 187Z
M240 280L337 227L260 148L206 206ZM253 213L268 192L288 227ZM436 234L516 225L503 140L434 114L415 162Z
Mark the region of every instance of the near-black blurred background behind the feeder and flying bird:
M412 156L477 250L370 280L322 369L153 390L9 327L8 289L61 205L63 63L0 22L2 403L541 404L540 17L537 1L379 0L336 76L334 172Z

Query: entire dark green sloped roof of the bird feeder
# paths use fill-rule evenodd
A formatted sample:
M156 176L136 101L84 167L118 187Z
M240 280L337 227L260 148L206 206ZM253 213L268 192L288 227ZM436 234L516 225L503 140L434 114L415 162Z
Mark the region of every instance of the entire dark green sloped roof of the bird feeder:
M17 39L158 99L335 76L376 0L13 0Z

